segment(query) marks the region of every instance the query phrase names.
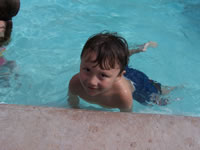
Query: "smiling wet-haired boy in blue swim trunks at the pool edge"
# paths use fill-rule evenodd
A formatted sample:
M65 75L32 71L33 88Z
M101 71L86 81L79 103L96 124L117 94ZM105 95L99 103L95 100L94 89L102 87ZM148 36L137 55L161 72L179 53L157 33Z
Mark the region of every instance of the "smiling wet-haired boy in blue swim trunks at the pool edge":
M99 33L90 37L81 53L80 72L69 83L70 106L79 108L79 97L125 112L132 111L133 99L142 104L162 104L158 102L161 84L128 67L130 55L156 45L148 42L129 51L126 40L117 34Z

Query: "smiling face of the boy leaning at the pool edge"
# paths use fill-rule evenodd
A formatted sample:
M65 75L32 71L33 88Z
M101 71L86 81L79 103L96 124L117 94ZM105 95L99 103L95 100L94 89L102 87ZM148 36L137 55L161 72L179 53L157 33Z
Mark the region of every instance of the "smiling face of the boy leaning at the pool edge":
M89 96L105 94L121 78L121 75L119 75L120 67L115 64L114 69L101 69L99 65L93 62L96 59L96 54L89 55L81 59L80 82Z

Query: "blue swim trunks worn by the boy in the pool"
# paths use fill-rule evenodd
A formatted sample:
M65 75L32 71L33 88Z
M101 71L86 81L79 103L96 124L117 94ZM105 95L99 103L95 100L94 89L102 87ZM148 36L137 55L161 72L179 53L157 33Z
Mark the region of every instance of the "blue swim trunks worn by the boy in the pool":
M153 95L162 94L161 84L149 79L147 75L139 70L127 66L124 76L133 82L135 87L135 91L132 94L133 99L141 104L148 104L153 101Z

